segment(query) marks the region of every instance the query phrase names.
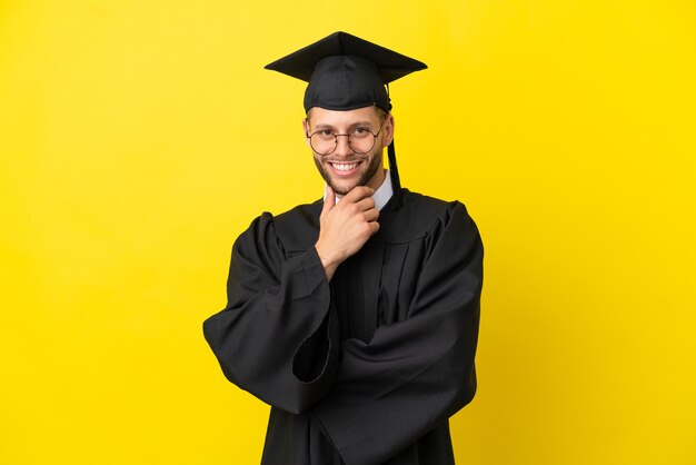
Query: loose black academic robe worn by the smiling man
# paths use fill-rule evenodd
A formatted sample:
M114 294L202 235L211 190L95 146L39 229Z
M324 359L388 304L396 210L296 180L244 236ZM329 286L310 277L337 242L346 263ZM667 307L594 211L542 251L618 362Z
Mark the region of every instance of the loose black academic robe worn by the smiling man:
M262 465L454 464L448 418L476 390L476 225L400 189L329 283L321 206L257 218L235 243L227 307L203 324L227 378L271 405Z

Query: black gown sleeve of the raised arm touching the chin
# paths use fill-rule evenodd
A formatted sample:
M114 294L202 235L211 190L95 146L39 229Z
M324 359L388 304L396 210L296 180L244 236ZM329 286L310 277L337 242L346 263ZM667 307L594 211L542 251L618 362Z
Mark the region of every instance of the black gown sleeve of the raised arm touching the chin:
M225 376L294 414L326 395L338 329L316 249L286 257L264 214L232 247L227 295L226 308L203 323Z

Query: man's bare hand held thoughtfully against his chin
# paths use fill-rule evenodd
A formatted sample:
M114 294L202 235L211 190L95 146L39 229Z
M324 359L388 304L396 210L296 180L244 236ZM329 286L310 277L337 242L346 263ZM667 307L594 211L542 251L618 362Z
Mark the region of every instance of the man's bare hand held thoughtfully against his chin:
M315 245L329 280L346 258L356 254L379 230L379 211L371 195L375 190L355 187L336 205L336 194L327 186L319 217L319 239Z

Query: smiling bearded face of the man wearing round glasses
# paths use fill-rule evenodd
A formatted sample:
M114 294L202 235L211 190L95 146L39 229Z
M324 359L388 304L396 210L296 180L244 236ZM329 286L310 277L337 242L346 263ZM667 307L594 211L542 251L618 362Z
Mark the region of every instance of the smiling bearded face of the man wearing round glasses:
M350 111L334 111L315 107L309 110L304 121L305 135L318 130L334 133L349 133L356 128L365 128L372 133L379 132L375 147L367 154L356 154L348 145L347 137L338 138L338 146L329 155L314 152L315 165L321 177L334 191L345 196L356 186L377 189L385 179L382 151L394 136L394 118L384 116L377 107L358 108ZM372 136L369 136L372 139ZM309 145L309 139L307 139ZM311 146L310 146L311 148Z

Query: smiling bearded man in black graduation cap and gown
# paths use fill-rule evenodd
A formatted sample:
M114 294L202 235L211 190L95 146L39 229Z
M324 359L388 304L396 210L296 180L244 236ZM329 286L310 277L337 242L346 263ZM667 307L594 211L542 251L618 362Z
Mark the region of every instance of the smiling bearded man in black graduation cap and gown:
M305 137L327 187L238 238L228 305L203 324L228 379L271 405L261 463L454 464L483 246L461 204L400 187L385 85L426 66L337 32L267 68L309 81Z

